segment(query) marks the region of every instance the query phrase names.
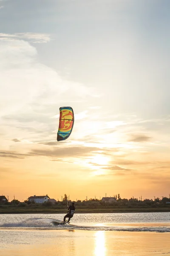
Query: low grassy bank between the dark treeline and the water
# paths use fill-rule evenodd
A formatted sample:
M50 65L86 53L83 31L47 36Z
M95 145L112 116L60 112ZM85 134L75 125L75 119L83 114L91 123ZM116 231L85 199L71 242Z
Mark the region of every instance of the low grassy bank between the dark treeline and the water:
M33 208L33 207L1 207L0 214L13 213L66 213L65 209ZM102 208L102 209L76 209L76 213L114 213L114 212L170 212L170 207L158 208Z

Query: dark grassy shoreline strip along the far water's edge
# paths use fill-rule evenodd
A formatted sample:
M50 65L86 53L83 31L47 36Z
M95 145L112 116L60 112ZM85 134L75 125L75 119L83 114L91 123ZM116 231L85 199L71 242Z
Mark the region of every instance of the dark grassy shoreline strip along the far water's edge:
M5 207L4 207L5 208ZM4 209L0 208L0 214L65 214L67 209ZM77 213L137 213L137 212L170 212L170 207L162 209L134 208L134 209L76 209Z

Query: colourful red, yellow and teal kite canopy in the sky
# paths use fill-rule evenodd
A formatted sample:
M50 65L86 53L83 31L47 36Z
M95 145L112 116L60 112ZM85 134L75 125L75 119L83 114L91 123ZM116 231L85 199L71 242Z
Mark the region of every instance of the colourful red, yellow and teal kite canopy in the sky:
M73 129L74 112L71 107L59 108L59 129L57 132L57 141L66 140Z

